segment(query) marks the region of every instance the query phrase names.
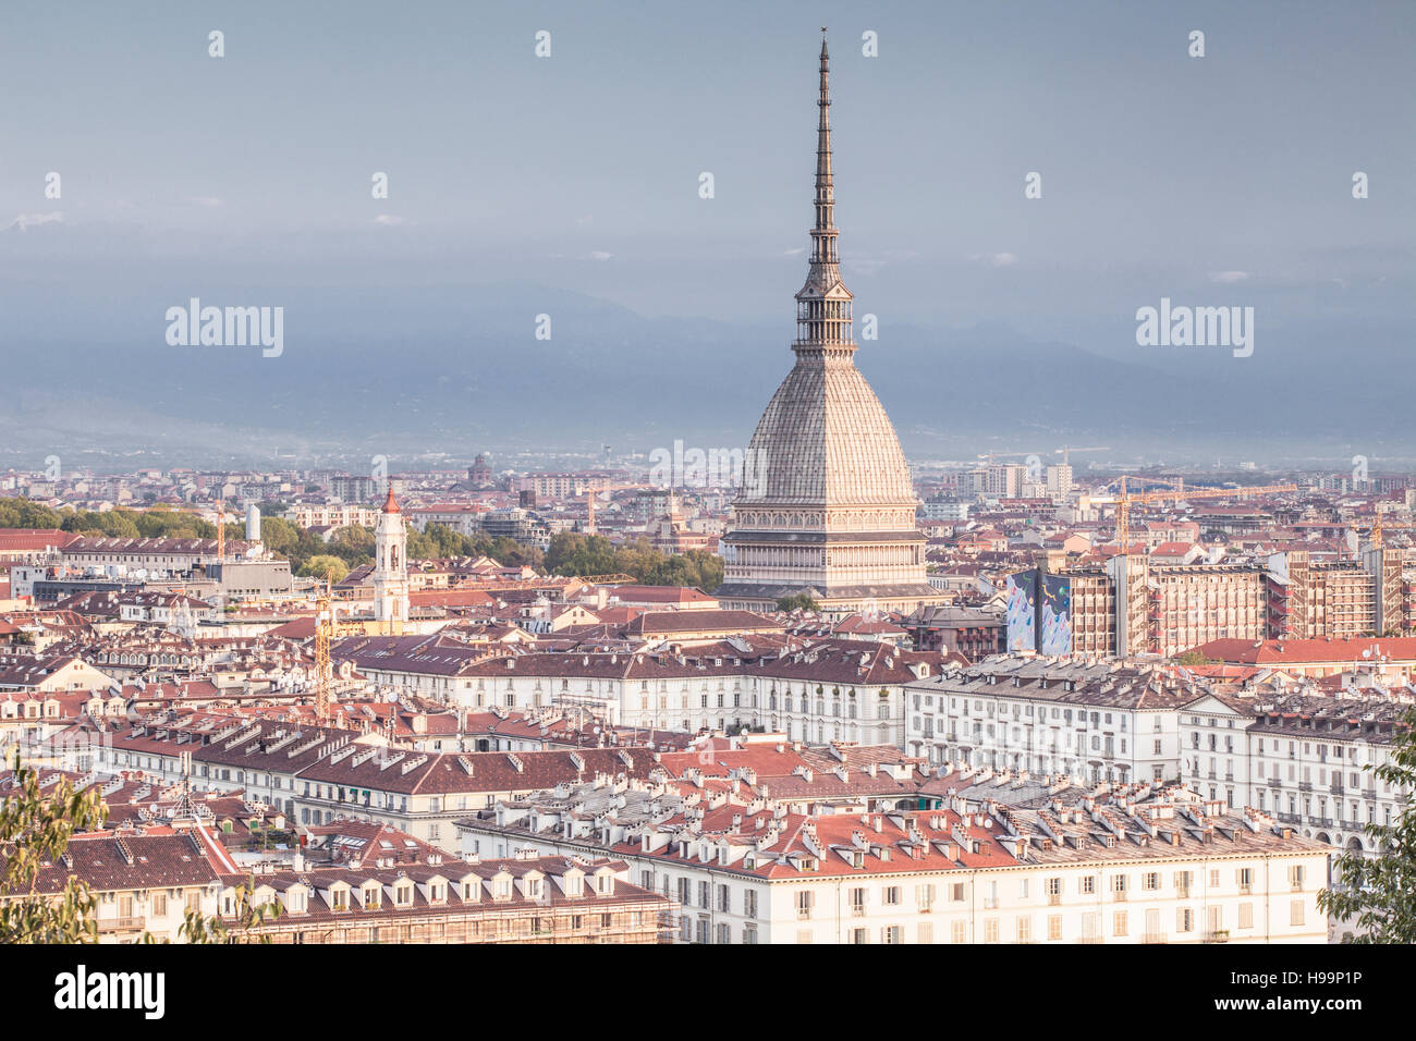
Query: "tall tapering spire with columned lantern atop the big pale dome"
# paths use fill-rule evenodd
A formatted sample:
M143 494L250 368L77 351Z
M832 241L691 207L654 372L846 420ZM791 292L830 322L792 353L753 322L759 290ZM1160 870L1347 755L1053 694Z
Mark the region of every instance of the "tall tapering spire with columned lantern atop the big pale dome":
M841 285L840 256L835 251L835 180L831 171L831 55L826 50L821 27L821 92L817 98L816 125L816 194L811 222L811 266L806 285L797 293L797 339L792 344L801 357L850 358L855 353L851 339L851 293Z

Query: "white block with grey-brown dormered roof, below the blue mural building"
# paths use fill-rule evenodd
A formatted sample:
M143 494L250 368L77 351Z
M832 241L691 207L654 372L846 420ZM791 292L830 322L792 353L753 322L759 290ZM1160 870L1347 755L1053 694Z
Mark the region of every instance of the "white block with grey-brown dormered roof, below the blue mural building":
M1000 657L906 686L903 748L937 765L1090 782L1180 776L1178 714L1201 693L1150 663Z

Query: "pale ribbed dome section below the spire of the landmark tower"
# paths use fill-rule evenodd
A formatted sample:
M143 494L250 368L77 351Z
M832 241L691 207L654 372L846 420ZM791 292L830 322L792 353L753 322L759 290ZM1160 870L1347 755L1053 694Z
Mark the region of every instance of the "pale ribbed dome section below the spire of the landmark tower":
M800 358L752 435L753 503L898 506L915 503L899 438L875 391L848 360Z

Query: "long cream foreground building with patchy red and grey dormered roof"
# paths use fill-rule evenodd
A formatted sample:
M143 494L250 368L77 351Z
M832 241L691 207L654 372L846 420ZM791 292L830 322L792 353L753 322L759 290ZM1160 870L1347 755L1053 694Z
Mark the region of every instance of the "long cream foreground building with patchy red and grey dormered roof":
M1041 809L800 814L760 797L595 804L565 790L457 823L464 851L613 855L694 943L1321 943L1328 847L1185 789Z

